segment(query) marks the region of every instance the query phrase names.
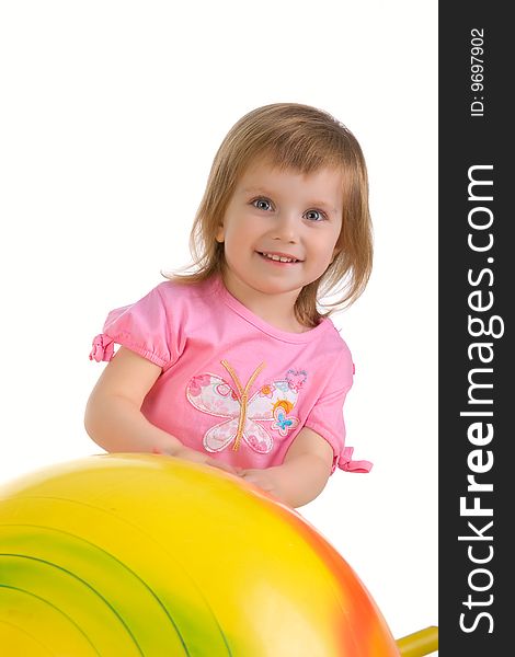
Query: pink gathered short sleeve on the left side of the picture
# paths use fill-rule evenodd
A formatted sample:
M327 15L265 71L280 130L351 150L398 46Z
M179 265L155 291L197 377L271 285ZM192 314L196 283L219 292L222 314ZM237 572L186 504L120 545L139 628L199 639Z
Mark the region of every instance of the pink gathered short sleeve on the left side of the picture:
M159 288L108 313L103 332L93 338L91 360L111 360L118 344L163 369L172 364L170 318Z

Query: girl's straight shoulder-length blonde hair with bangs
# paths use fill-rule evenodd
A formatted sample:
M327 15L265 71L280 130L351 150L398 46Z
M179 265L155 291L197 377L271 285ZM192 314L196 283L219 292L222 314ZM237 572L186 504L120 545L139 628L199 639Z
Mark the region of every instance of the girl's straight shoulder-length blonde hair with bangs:
M298 321L312 327L322 316L351 306L360 296L373 262L365 159L354 135L322 110L275 103L249 112L232 126L215 155L193 223L193 264L187 269L194 270L164 276L193 284L224 273L224 244L215 235L239 178L258 158L266 158L274 168L302 174L324 168L343 172L342 229L336 242L341 250L324 274L302 288L295 303ZM330 291L340 298L325 304L327 312L320 312L320 298Z

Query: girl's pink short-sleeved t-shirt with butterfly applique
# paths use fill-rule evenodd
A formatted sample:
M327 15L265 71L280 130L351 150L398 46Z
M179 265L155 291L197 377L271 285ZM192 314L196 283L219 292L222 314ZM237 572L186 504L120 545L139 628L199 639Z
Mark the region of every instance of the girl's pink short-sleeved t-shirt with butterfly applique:
M162 368L141 412L187 447L240 468L268 468L309 427L333 448L333 472L371 468L344 447L354 366L329 319L288 333L253 314L219 277L167 280L108 313L90 358L110 360L114 344Z

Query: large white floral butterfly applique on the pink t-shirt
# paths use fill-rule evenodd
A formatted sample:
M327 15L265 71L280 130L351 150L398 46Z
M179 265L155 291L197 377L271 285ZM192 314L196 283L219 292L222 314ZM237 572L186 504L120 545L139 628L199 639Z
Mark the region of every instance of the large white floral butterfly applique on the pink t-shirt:
M267 454L274 440L259 422L271 423L271 429L277 430L281 436L294 430L299 419L289 415L289 412L297 402L298 388L291 387L285 379L263 385L249 397L249 390L265 367L264 362L254 370L244 387L232 367L226 360L221 364L229 372L236 390L217 374L194 377L186 389L187 400L195 408L224 418L224 422L206 431L204 448L218 452L232 443L232 449L238 450L243 439L255 452Z

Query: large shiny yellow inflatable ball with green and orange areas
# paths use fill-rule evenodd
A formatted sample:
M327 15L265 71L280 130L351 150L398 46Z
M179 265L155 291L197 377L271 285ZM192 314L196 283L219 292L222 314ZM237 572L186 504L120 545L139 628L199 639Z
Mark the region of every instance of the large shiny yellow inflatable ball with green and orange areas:
M399 656L365 586L297 511L153 454L0 488L0 653Z

